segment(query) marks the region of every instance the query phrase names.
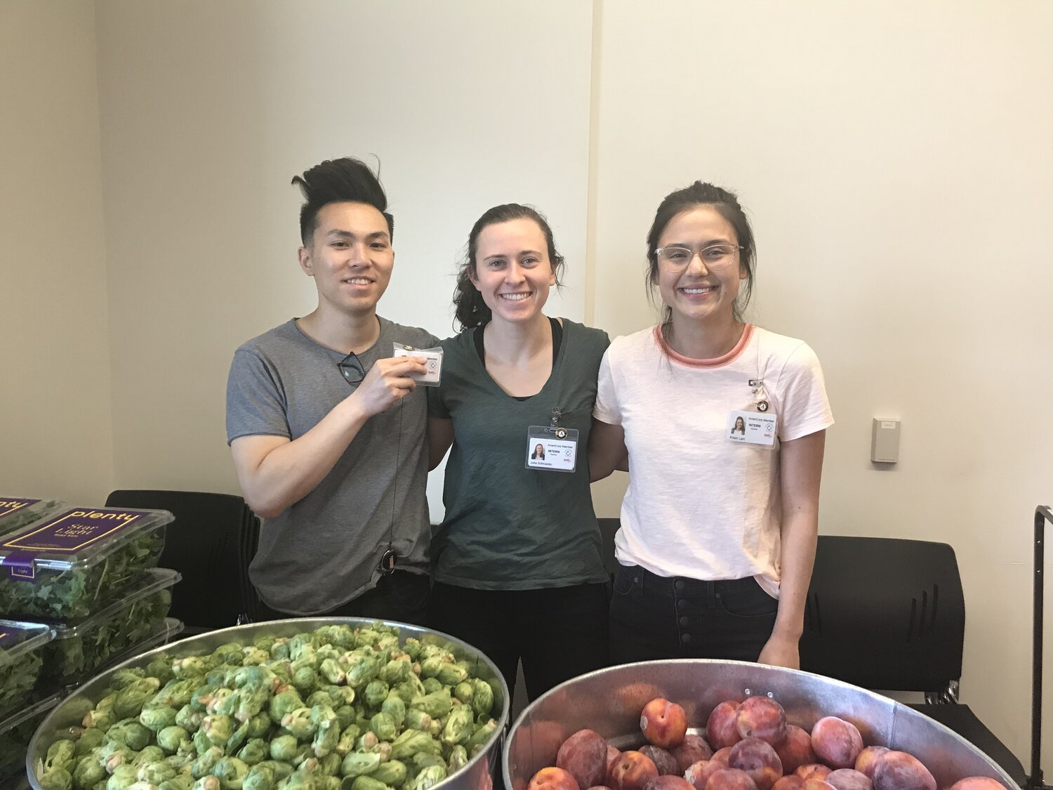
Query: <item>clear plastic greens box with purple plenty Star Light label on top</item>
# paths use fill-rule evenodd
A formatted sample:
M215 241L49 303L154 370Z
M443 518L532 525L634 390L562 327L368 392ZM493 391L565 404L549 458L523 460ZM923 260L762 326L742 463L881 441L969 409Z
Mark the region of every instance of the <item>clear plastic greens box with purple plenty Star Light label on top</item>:
M0 613L62 620L87 617L164 548L166 510L75 509L0 537Z

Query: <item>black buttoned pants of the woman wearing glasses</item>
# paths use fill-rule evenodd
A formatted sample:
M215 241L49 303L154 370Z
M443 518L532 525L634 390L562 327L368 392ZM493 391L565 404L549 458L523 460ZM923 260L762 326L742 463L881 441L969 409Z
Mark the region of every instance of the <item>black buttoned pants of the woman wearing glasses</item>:
M755 661L777 611L778 601L752 577L700 581L620 566L611 599L611 659Z

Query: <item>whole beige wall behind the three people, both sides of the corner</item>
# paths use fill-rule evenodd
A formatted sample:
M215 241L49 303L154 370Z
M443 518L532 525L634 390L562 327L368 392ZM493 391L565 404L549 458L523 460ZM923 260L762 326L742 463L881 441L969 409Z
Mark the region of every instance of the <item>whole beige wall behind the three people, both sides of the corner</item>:
M1028 762L1031 512L1053 499L1053 5L91 8L0 2L3 336L27 368L2 391L17 419L0 481L17 491L0 493L236 491L226 367L314 305L287 184L322 158L380 156L398 219L382 312L439 335L466 232L506 200L553 220L570 263L556 311L647 325L649 220L712 179L754 221L753 319L823 363L821 530L955 547L962 697ZM903 421L892 469L868 460L875 416ZM597 487L602 515L622 487Z

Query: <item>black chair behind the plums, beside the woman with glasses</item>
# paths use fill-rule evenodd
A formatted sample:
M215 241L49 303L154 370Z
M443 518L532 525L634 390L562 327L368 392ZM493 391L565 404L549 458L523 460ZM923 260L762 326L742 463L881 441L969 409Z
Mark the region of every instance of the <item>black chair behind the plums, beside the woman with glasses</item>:
M882 691L975 745L1021 787L1020 761L958 702L966 605L947 544L820 535L804 610L801 669Z

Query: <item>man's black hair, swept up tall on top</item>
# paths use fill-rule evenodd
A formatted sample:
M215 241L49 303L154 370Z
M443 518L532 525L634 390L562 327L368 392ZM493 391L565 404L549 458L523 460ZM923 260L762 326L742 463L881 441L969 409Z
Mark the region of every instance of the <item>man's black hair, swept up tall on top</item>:
M343 157L326 159L305 170L302 176L294 176L293 183L303 193L300 209L300 240L304 246L318 228L318 212L330 203L365 203L384 215L388 233L395 237L395 218L388 213L388 196L379 179L360 159Z

